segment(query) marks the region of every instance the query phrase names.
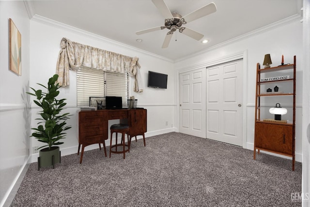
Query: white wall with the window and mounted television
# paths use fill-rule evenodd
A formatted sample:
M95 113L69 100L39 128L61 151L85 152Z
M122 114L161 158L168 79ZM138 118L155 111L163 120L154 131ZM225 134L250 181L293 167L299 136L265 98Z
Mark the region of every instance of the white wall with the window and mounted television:
M34 18L36 19L36 18ZM44 23L42 23L42 20ZM156 57L151 54L140 52L135 48L126 47L124 45L112 42L108 39L97 35L79 31L68 26L51 26L48 19L31 20L30 21L30 43L31 43L31 73L30 86L36 87L36 83L45 84L56 71L56 63L59 51L61 49L60 42L63 37L71 41L81 44L101 48L104 50L120 53L126 56L137 56L140 59L140 72L144 80L143 93L133 92L133 81L130 79L130 96L135 96L138 99L138 107L147 109L147 133L146 136L162 134L169 131L174 131L175 127L175 88L174 88L174 70L173 63L167 59ZM148 71L156 71L168 74L167 89L154 89L147 87ZM67 112L73 114L68 124L72 126L67 131L67 137L64 144L60 145L62 155L76 153L78 151L78 108L76 97L76 72L70 71L70 85L60 89L60 98L67 98ZM32 98L32 97L31 97ZM34 108L31 110L35 114L39 109L31 103ZM34 115L35 116L35 115ZM168 126L166 126L166 121ZM109 121L113 124L117 121ZM32 119L31 126L36 126L36 121ZM107 142L108 144L108 142ZM32 142L32 146L41 146L37 141ZM97 148L98 145L86 147L85 150ZM37 156L37 155L36 155ZM33 156L32 161L36 161L36 156Z

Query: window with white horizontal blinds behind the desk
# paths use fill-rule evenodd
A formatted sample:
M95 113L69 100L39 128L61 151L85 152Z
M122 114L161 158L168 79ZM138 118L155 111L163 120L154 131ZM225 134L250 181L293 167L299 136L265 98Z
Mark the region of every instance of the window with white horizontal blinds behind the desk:
M81 68L77 70L77 106L89 106L89 97L122 96L123 105L129 98L129 76L103 70ZM104 104L105 105L105 104Z

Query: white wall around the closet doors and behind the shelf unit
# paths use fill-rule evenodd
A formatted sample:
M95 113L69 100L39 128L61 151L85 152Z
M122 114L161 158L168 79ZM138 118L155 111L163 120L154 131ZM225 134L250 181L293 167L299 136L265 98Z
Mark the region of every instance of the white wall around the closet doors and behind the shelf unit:
M196 54L184 60L178 60L175 63L177 70L194 68L196 65L204 65L216 62L223 58L232 56L236 53L245 52L245 81L243 106L246 107L246 147L253 150L254 144L254 115L255 115L255 81L256 64L263 64L265 54L271 55L272 66L281 64L281 56L284 55L285 63L293 63L293 57L296 55L296 160L302 161L302 23L295 20L281 27L261 32L238 41L232 41L221 47L215 47L210 50ZM300 92L300 93L298 93ZM288 104L288 103L287 103Z

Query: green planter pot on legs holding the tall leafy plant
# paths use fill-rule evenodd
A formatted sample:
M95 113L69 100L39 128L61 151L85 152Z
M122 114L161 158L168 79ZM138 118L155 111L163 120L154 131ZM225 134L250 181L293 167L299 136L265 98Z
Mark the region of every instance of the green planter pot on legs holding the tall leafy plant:
M52 146L50 149L43 148L39 151L38 157L38 170L41 167L51 167L55 168L55 163L61 162L61 152L59 146Z

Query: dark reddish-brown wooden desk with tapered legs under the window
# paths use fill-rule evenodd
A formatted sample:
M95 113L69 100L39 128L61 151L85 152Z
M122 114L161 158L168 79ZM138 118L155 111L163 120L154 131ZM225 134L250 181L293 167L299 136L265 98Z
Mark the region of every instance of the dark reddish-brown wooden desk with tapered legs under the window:
M103 144L107 157L105 140L109 138L109 120L120 119L130 127L129 136L135 137L146 132L146 109L97 110L78 112L78 154L82 145L79 163L82 163L84 147L91 144ZM145 143L144 143L145 145Z

